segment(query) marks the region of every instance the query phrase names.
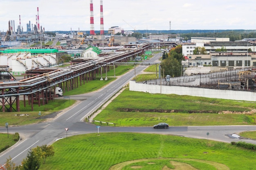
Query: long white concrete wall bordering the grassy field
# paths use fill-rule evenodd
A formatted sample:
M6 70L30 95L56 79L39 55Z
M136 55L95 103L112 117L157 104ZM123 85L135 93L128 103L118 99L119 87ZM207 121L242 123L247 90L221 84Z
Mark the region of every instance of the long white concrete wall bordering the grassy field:
M161 93L161 94L176 94L176 95L191 95L199 97L210 97L217 99L231 99L256 101L255 92L247 91L231 91L231 90L216 90L208 88L182 87L182 86L160 86L136 83L130 80L130 91L141 91L146 93Z

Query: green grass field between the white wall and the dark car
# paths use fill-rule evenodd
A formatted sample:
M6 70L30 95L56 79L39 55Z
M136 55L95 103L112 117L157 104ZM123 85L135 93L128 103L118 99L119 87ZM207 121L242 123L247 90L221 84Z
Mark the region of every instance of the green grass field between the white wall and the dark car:
M255 107L254 102L150 94L127 88L94 120L116 126L153 126L159 122L170 126L255 125Z

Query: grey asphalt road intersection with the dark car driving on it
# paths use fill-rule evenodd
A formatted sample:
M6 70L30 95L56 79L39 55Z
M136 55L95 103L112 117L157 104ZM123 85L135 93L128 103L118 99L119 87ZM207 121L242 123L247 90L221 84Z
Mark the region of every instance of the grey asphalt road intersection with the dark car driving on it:
M155 55L147 62L154 62L159 58L160 54ZM139 65L136 67L136 74L144 70L146 66ZM103 89L84 95L76 95L70 98L82 100L79 104L72 107L70 110L54 117L52 120L32 124L27 126L9 126L9 133L20 133L22 139L0 154L0 165L6 162L9 156L12 161L19 165L27 156L27 151L36 146L44 144L52 144L57 139L69 137L72 135L96 133L98 129L95 125L85 123L83 120L90 115L93 110L103 104L111 95L126 85L132 77L135 76L135 71L131 70L125 75L119 77L115 82L110 83ZM104 80L103 80L104 81ZM68 128L68 131L65 130ZM142 132L142 133L157 133L167 135L180 135L184 137L193 137L199 139L210 139L223 142L231 141L246 141L256 144L256 141L249 139L239 139L231 135L236 132L246 130L256 130L256 126L184 126L170 127L167 129L153 129L153 127L110 127L101 126L99 132ZM6 133L7 129L0 128L0 133ZM207 136L209 132L209 136Z

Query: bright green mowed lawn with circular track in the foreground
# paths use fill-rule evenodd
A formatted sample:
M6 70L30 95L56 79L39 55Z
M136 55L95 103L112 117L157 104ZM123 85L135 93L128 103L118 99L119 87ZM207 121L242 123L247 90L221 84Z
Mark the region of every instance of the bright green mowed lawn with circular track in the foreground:
M54 157L40 170L168 170L188 165L194 170L256 169L255 151L171 135L93 133L58 140L53 147Z

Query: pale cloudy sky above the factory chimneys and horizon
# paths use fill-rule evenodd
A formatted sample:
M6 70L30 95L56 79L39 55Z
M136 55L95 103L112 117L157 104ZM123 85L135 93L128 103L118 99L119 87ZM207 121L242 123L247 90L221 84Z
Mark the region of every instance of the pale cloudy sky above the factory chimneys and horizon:
M94 30L100 30L100 0L93 0ZM45 31L90 30L90 0L0 0L0 31L15 20L39 22ZM104 30L256 29L255 0L103 0Z

